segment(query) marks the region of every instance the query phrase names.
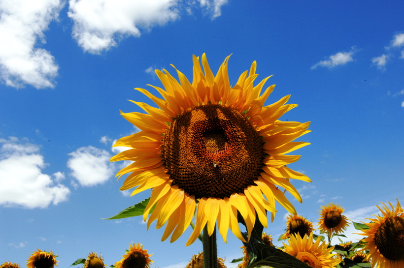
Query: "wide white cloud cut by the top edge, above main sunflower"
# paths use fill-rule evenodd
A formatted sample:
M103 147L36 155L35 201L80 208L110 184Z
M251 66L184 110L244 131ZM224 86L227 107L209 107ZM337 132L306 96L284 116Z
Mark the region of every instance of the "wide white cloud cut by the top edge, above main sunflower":
M220 16L227 0L199 0L212 19ZM73 38L91 54L100 54L117 45L119 40L141 35L180 18L182 9L188 14L195 1L180 0L69 0L68 16L73 20Z

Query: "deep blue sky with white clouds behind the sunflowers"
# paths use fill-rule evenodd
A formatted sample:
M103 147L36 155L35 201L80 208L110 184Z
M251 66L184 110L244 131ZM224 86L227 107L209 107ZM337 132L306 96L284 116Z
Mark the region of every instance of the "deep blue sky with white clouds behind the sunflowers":
M142 3L140 3L142 2ZM290 165L312 183L294 181L299 214L341 204L364 221L379 202L404 202L404 3L402 1L1 0L0 263L25 266L36 248L59 267L90 251L109 266L130 242L154 253L160 268L185 267L202 250L174 243L140 217L101 218L147 198L120 192L110 163L114 140L134 133L128 99L152 104L134 88L160 86L154 69L174 64L192 79L192 55L212 70L230 54L229 77L257 61L274 75L266 105L291 94L299 107L282 120L311 121ZM267 232L275 240L286 210ZM348 232L352 233L350 228ZM357 238L350 236L350 238ZM218 255L241 256L241 242L219 236ZM279 244L279 243L278 243ZM229 265L228 267L234 267Z

